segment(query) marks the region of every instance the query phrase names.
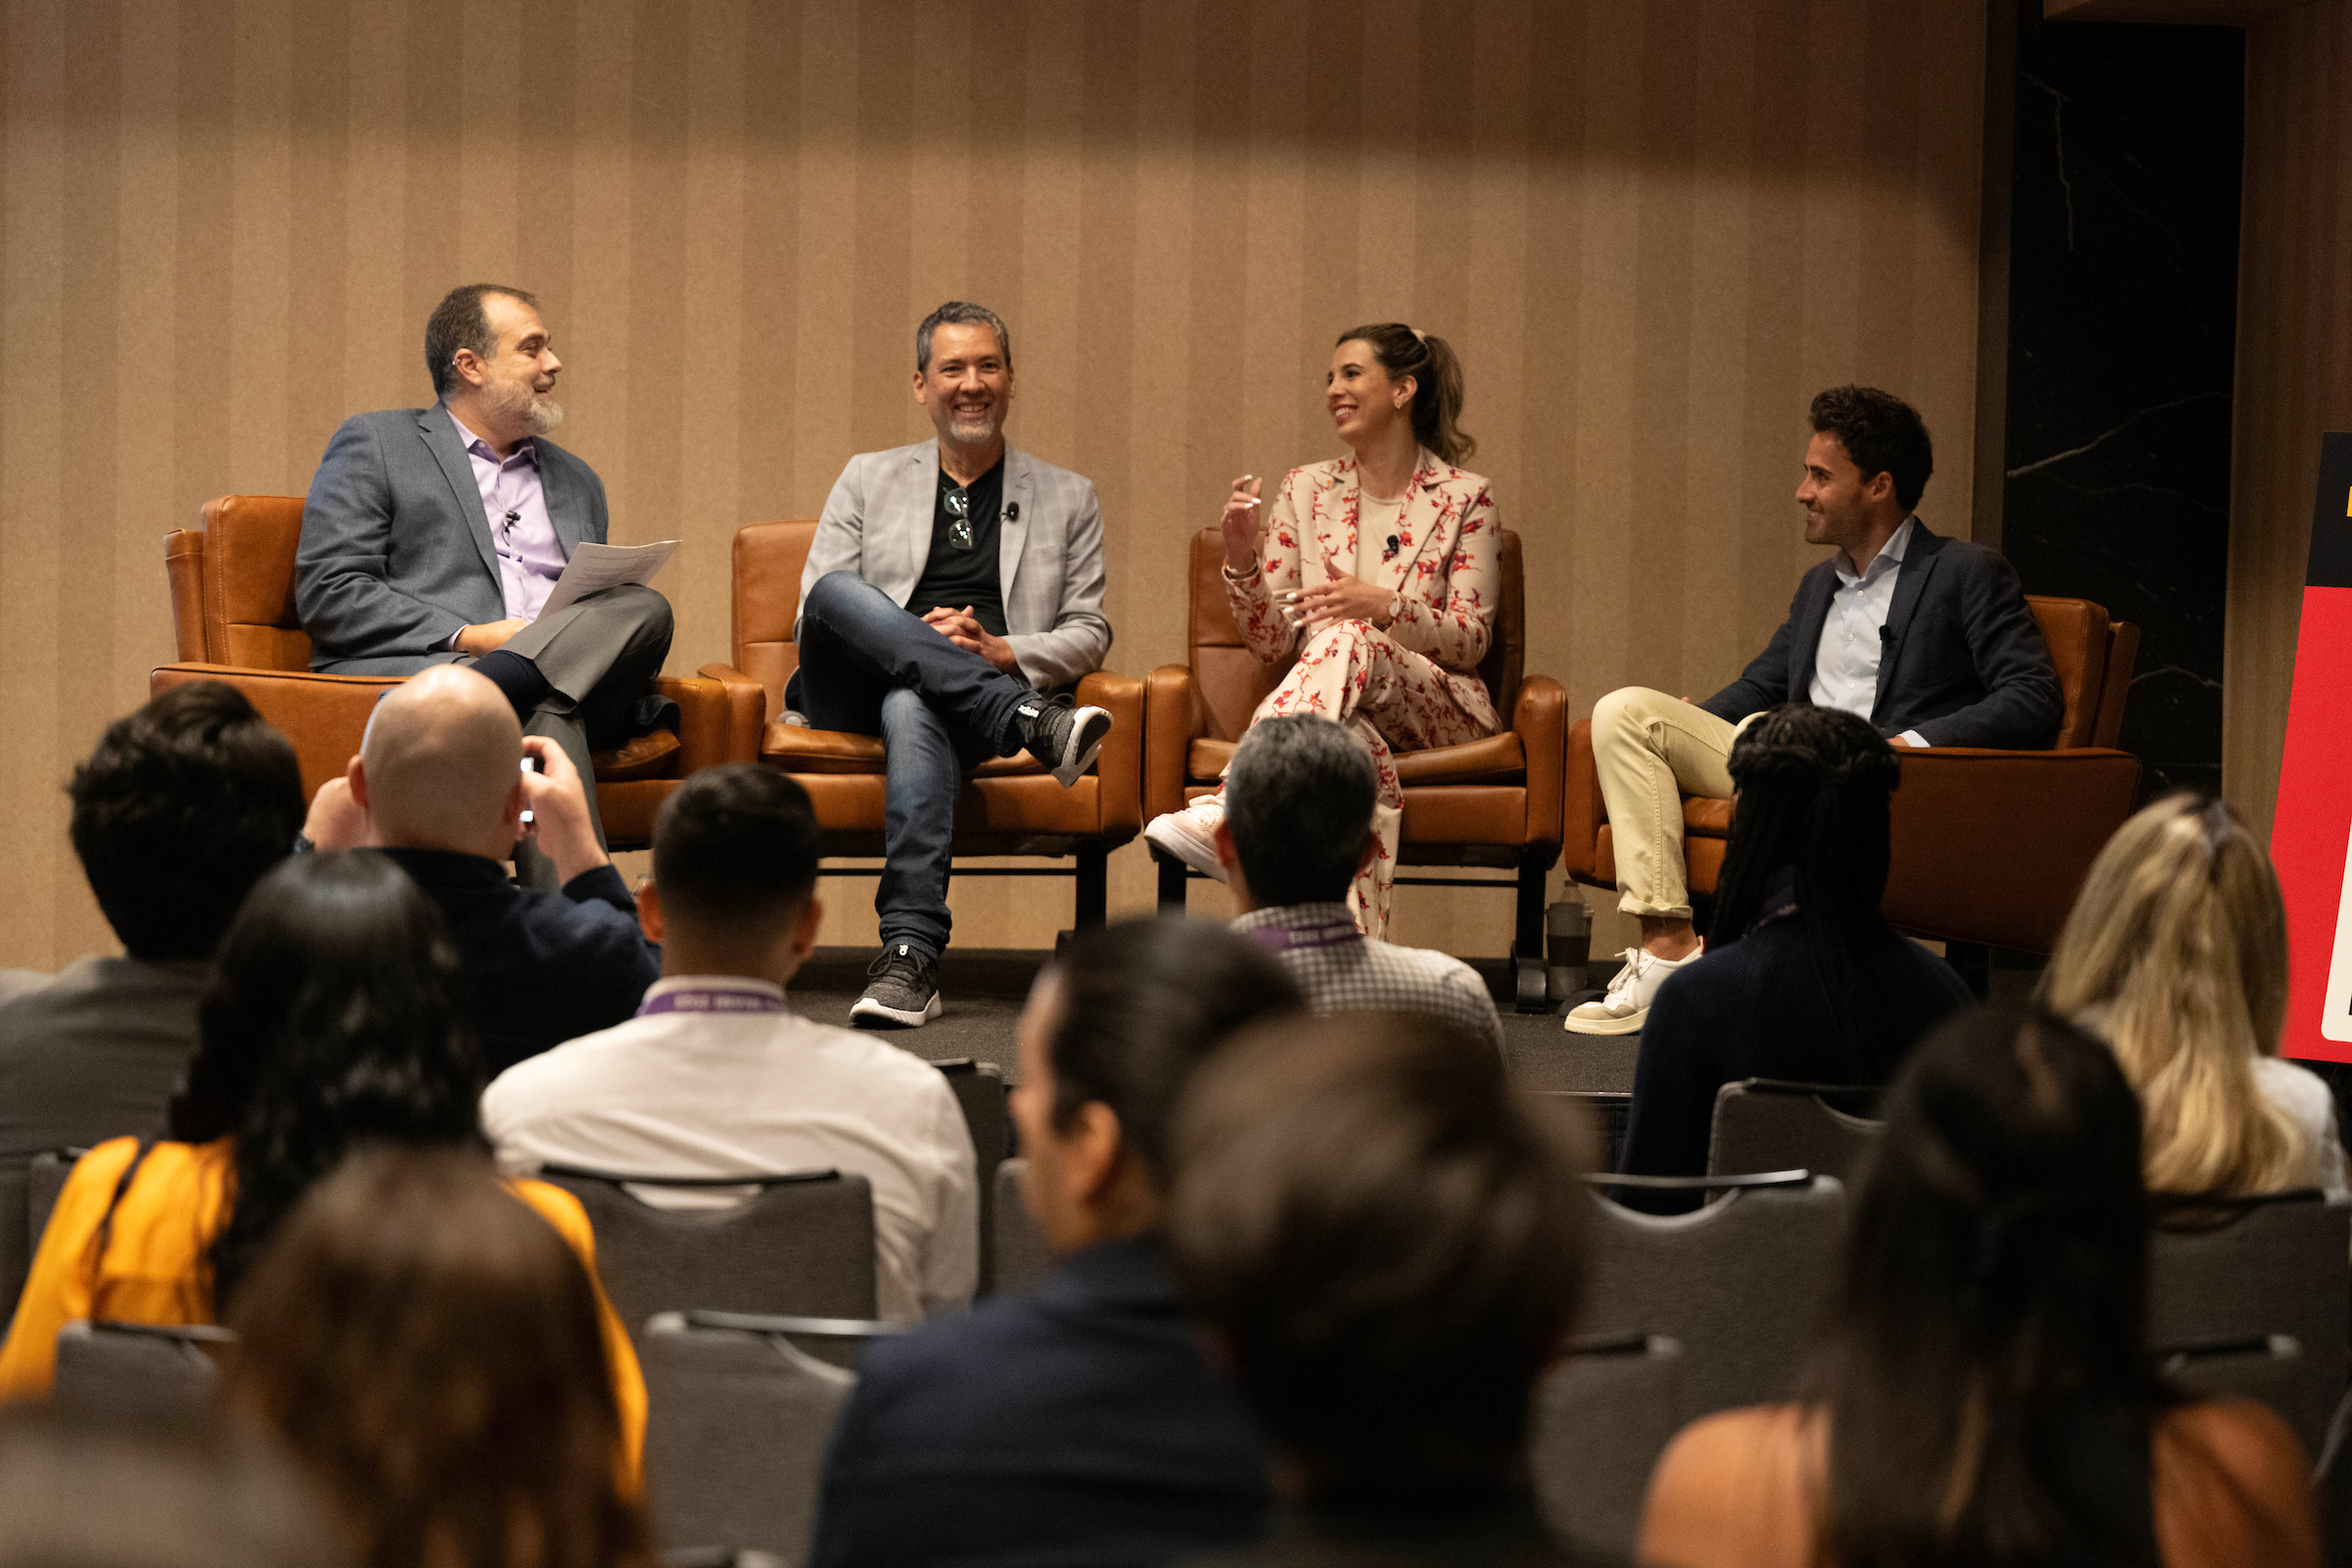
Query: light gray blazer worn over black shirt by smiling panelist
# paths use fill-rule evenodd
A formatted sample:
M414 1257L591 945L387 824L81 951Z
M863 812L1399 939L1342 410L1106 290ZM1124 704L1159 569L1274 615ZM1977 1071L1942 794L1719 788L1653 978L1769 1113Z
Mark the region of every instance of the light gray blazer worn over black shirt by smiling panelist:
M901 607L931 559L938 442L861 451L833 482L800 574L807 599L828 571L856 571ZM1014 508L1021 508L1014 515ZM1103 508L1094 480L1004 449L1004 520L997 524L1004 642L1037 691L1103 668ZM800 637L795 621L793 637Z

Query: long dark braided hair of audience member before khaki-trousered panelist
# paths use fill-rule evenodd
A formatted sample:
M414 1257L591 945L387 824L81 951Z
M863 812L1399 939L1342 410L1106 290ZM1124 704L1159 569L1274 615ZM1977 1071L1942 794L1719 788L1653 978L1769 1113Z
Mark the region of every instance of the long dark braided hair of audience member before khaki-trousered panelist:
M1889 802L1900 783L1893 748L1839 708L1790 703L1731 745L1738 811L1708 943L1740 940L1762 917L1773 872L1797 867L1797 910L1813 976L1830 1001L1849 1084L1893 1070L1886 997L1863 954L1893 929L1886 896Z

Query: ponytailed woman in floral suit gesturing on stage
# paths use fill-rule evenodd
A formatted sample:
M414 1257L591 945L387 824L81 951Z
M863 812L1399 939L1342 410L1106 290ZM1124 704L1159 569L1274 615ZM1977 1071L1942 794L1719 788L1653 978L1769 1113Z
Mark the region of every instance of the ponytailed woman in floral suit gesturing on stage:
M1324 402L1350 456L1294 468L1270 508L1242 475L1225 498L1225 595L1251 651L1294 661L1251 722L1319 712L1345 724L1381 783L1376 844L1348 891L1367 936L1388 929L1404 792L1392 752L1503 729L1477 665L1501 597L1501 522L1477 442L1456 425L1461 362L1402 322L1357 327L1331 350ZM1223 879L1223 790L1152 818L1143 837Z

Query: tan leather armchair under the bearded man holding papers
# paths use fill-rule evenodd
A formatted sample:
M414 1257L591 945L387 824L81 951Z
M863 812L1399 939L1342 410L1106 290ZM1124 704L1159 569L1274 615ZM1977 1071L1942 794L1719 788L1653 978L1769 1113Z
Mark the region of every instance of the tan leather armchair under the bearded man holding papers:
M193 679L238 686L294 743L303 795L315 795L350 764L376 696L402 677L310 672L310 637L294 616L299 541L301 496L221 496L205 503L202 529L165 534L179 663L158 668L148 691ZM595 752L595 804L612 849L652 844L654 813L677 780L727 759L724 689L673 675L656 684L677 703L677 731Z

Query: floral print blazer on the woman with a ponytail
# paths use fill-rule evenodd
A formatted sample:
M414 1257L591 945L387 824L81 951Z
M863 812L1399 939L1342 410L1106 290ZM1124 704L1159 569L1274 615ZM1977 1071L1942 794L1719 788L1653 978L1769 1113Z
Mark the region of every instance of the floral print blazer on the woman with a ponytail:
M1298 651L1298 628L1279 604L1287 590L1355 576L1357 503L1352 456L1294 468L1282 477L1258 534L1258 569L1225 574L1232 621L1249 651L1265 663L1284 663ZM1454 701L1486 729L1501 729L1486 682L1477 675L1503 597L1501 534L1486 480L1423 447L1404 487L1397 543L1381 552L1374 576L1402 602L1388 635L1439 665Z

